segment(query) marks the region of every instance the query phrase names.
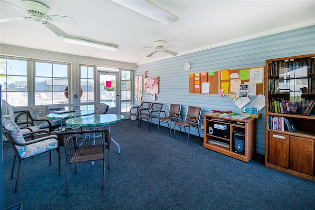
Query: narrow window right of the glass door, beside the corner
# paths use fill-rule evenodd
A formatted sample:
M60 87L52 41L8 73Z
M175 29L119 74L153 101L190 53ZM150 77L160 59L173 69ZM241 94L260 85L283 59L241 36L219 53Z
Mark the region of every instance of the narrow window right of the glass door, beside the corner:
M121 88L121 96L122 96L122 110L121 112L128 112L130 107L130 96L131 96L131 80L130 80L130 70L122 70L122 88Z

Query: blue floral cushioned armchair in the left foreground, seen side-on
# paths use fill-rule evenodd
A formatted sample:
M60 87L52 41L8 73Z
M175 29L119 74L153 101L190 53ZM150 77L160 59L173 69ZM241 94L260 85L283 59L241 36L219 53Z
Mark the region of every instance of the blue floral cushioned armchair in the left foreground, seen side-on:
M48 136L41 137L35 140L25 141L22 135L21 129L17 126L17 124L14 121L12 120L5 121L3 127L4 127L3 133L8 139L14 151L11 179L13 178L13 173L14 173L15 158L17 158L19 161L14 192L16 192L18 188L21 161L24 159L27 159L27 158L30 158L30 157L33 157L35 155L42 154L45 152L49 152L49 163L51 165L51 150L56 149L58 152L58 158L59 158L59 175L60 175L60 145L58 143L58 138L56 135L51 135L48 131L40 130L37 132L31 132L29 134L33 135L35 133L46 133L48 134Z

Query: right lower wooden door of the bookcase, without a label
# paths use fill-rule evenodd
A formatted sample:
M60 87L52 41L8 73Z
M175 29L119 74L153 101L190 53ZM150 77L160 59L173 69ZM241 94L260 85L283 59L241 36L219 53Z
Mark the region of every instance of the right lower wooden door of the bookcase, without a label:
M290 169L314 175L314 140L290 137Z

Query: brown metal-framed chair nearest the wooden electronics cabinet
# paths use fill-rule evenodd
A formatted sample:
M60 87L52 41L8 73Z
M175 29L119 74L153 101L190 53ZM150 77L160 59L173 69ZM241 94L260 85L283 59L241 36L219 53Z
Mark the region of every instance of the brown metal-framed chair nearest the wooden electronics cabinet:
M176 121L174 125L174 136L173 138L175 139L175 127L176 125L178 126L183 126L186 132L186 127L188 127L188 136L187 136L187 144L189 144L189 133L190 133L190 127L197 127L198 129L198 135L200 137L199 133L199 120L200 120L200 115L201 115L201 108L200 107L194 107L194 106L188 106L187 112L186 112L186 117L184 121Z

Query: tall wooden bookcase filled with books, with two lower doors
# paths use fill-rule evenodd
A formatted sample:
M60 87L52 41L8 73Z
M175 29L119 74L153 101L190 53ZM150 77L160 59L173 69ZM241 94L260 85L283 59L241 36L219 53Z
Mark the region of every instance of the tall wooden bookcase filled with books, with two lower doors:
M315 54L267 60L266 81L265 165L315 181Z

